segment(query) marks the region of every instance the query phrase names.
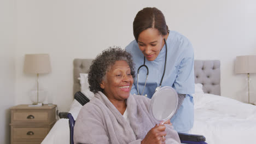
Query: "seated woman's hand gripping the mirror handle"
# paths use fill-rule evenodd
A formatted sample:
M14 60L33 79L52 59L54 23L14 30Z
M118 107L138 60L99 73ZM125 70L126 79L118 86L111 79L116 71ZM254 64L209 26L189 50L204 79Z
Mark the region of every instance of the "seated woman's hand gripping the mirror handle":
M165 143L165 136L166 136L165 125L164 124L161 124L161 125L156 124L154 128L152 128L148 131L148 134L141 141L141 143L142 144L144 144L144 143L147 143L147 144Z

